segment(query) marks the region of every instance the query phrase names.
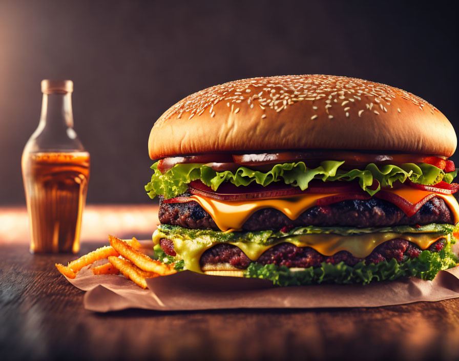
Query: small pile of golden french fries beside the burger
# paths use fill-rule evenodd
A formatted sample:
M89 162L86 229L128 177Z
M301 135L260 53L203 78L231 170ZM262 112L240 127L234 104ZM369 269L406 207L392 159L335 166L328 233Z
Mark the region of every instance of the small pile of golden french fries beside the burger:
M67 266L56 264L57 269L66 277L75 278L82 268L107 258L106 264L91 268L94 274L121 273L142 288L147 288L146 278L177 272L173 264L166 265L140 252L140 243L136 238L123 240L109 235L109 240L110 246L101 247L85 254Z

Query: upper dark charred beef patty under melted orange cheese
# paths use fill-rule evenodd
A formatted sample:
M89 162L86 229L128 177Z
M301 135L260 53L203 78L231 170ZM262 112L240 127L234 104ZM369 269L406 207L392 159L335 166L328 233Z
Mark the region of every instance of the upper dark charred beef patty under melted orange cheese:
M212 217L197 202L163 203L162 200L163 197L160 196L159 222L161 224L219 230ZM253 213L242 229L258 231L300 226L389 227L429 223L453 223L451 211L442 198L434 197L428 200L411 217L387 200L374 197L311 207L295 220L291 220L277 209L265 208Z

